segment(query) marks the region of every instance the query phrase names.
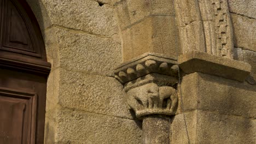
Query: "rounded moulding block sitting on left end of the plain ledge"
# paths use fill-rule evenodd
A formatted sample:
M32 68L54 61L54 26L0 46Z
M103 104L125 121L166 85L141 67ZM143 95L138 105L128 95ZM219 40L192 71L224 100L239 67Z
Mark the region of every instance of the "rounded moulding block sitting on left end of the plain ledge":
M197 50L206 52L202 21L194 21L179 28L183 53Z

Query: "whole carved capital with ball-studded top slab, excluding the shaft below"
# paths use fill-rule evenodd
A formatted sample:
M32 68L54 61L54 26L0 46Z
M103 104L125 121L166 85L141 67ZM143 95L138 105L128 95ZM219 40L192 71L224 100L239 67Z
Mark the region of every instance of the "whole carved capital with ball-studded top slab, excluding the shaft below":
M173 88L178 82L177 71L174 58L145 53L121 65L114 74L124 84L127 103L142 119L148 115L174 115L178 102Z

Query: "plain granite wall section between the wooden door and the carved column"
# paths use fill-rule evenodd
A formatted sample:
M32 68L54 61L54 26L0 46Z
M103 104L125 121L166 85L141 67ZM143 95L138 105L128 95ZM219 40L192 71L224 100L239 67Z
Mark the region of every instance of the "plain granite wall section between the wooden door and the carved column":
M52 64L46 95L45 143L139 143L141 122L113 77L122 62L110 1L27 0Z

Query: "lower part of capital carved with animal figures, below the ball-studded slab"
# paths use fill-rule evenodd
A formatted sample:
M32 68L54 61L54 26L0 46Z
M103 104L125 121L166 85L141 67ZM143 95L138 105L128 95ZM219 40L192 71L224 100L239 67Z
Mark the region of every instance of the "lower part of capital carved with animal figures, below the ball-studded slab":
M148 83L127 92L127 103L138 118L158 114L171 116L177 101L176 89L170 86L159 87L156 83Z

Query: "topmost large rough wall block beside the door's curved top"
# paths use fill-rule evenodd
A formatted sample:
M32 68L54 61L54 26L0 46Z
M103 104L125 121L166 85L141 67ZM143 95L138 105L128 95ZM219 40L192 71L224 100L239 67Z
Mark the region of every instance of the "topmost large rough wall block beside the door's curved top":
M99 1L103 3L103 1ZM118 34L114 9L97 1L42 0L51 25L112 37Z

